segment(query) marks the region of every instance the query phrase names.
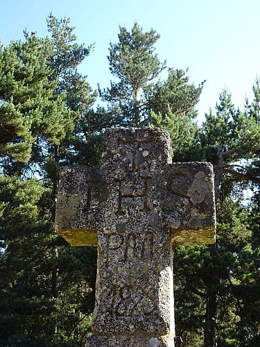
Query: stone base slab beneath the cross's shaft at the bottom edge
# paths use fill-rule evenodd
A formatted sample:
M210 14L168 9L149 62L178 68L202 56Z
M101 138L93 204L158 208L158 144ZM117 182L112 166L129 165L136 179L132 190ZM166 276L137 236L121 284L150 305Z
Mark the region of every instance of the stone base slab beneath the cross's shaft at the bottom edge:
M111 335L87 338L85 347L174 347L174 336L144 337L138 335Z

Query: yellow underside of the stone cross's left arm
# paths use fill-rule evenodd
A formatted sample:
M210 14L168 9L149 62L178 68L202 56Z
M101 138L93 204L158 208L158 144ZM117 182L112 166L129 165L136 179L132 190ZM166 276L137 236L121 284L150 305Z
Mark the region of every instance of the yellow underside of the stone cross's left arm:
M98 246L95 229L59 229L57 231L71 246Z

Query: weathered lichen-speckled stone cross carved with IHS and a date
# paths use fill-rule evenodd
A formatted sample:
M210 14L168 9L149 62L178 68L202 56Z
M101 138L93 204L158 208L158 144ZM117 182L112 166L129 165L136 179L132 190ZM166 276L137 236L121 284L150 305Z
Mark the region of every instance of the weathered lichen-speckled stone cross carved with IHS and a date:
M171 163L164 130L105 133L100 167L64 167L55 228L98 246L86 346L174 346L173 245L214 243L213 171Z

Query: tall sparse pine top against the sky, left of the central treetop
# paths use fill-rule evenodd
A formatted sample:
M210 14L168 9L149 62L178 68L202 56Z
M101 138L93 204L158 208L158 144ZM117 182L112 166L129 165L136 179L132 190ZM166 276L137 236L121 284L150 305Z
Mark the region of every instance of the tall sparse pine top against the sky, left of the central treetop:
M92 107L97 93L87 83L87 76L78 73L77 67L94 47L78 44L73 33L75 27L69 23L69 18L58 20L52 13L47 18L51 33L51 38L47 38L50 42L48 64L53 71L51 79L59 81L57 92L65 95L67 108L83 112Z

